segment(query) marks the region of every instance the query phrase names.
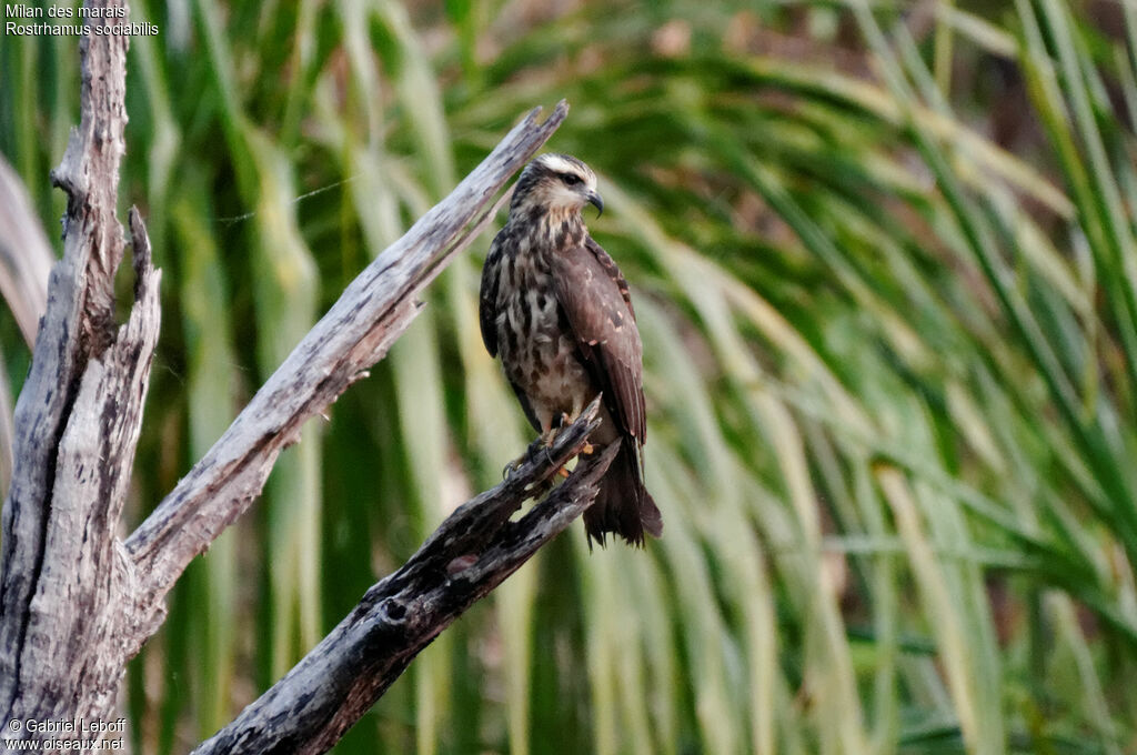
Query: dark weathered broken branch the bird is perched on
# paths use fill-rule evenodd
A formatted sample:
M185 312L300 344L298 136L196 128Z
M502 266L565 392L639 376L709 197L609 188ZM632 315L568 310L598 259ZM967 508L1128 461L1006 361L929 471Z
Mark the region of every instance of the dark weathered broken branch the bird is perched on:
M534 449L505 482L458 507L402 569L367 590L284 679L194 755L329 750L420 650L592 503L616 446L582 457L548 498L509 521L534 484L580 451L599 424L598 407L594 401L547 453Z

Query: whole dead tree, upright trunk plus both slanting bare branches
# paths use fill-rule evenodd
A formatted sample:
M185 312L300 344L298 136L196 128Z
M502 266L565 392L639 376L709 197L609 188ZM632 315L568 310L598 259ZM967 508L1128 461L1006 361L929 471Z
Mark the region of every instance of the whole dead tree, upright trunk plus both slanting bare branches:
M103 16L113 14L92 14L90 25L109 23ZM492 219L493 197L567 111L562 102L540 124L537 110L531 113L380 255L123 542L115 532L158 338L160 281L146 227L132 209L134 304L126 323L115 324L114 277L125 251L115 206L125 150L126 48L126 38L117 35L92 33L81 41L81 122L52 172L68 197L66 238L15 414L16 466L0 555L0 737L15 736L14 721L109 715L127 661L160 627L164 598L189 562L259 496L302 424L385 355L417 313L418 293ZM606 456L582 463L520 522L508 520L536 480L580 450L590 420L562 433L549 459L537 455L539 462L456 512L412 562L370 590L308 658L202 752L235 752L239 741L274 741L267 746L289 752L323 752L334 744L422 647L591 501ZM310 685L323 692L309 695ZM272 739L258 728L258 716L281 711L306 715ZM259 745L248 747L241 752L260 752Z

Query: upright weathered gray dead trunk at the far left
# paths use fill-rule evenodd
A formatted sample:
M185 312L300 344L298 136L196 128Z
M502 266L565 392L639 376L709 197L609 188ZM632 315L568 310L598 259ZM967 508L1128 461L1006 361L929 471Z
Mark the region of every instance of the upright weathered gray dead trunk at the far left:
M158 332L158 277L147 254L139 255L130 322L119 329L113 317L114 273L125 246L115 206L126 125L126 44L115 35L81 41L80 126L52 172L67 192L66 235L16 403L16 466L0 561L2 722L77 711L77 678L90 682L92 698L114 691L92 669L124 578L111 533ZM57 623L75 616L89 621Z

